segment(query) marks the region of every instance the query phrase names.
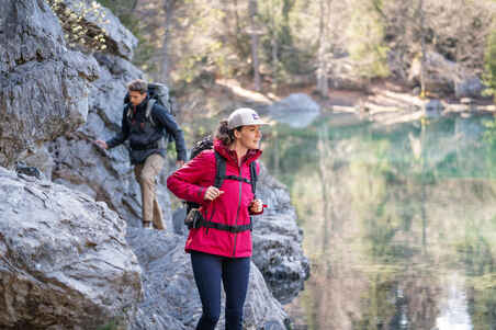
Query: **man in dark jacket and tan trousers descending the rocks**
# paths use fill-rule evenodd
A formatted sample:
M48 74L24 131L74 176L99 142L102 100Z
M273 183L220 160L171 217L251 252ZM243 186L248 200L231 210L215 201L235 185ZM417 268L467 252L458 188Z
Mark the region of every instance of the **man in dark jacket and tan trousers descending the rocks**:
M155 185L164 167L166 148L160 141L172 136L178 153L177 167L187 159L184 137L174 117L148 95L148 83L133 80L127 84L129 103L124 106L121 132L108 141L95 140L103 148L111 149L129 140L129 158L134 174L142 190L143 227L164 230L162 213L157 202ZM153 103L150 103L153 102Z

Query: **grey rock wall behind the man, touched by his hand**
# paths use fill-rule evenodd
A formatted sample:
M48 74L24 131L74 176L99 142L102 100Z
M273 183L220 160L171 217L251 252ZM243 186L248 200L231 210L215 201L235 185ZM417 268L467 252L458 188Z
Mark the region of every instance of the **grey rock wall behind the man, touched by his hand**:
M126 146L99 150L91 140L109 139L120 129L126 82L140 77L127 60L100 54L100 77L89 94L88 121L76 133L64 135L47 146L54 162L52 179L104 201L131 226L140 226L140 192L134 179ZM166 225L170 207L165 187L166 170L158 182L158 198Z

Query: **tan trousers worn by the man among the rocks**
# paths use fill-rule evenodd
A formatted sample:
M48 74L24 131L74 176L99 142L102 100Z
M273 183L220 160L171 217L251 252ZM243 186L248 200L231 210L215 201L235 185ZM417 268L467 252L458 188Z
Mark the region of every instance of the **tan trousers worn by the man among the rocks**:
M134 167L134 175L142 187L143 225L154 223L154 227L164 230L162 212L157 202L155 185L157 175L164 167L164 158L160 155L150 155L144 163Z

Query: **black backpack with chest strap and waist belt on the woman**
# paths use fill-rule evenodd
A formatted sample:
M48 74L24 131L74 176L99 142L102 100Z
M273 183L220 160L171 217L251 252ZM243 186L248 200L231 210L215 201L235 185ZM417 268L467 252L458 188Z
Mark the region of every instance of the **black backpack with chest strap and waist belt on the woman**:
M214 143L212 140L212 136L208 135L208 136L204 137L203 139L199 140L194 144L193 148L191 149L190 160L193 159L194 157L196 157L203 150L213 149L213 147L214 147ZM224 180L226 180L226 179L244 181L244 182L251 184L251 192L253 193L253 197L257 198L257 195L256 195L257 180L258 180L257 177L258 175L257 175L257 162L256 161L252 161L250 163L250 180L248 180L246 178L236 177L236 175L226 175L226 159L223 156L221 156L221 153L215 151L215 182L214 182L215 187L219 189L222 186L222 184L224 183ZM251 224L249 225L249 227L246 227L246 226L233 227L233 226L226 226L226 225L205 221L205 219L203 219L203 217L200 215L200 213L196 213L195 215L192 215L192 213L191 213L192 209L200 208L200 206L201 206L200 204L194 203L194 202L184 202L184 204L187 207L187 219L184 220L184 224L190 229L193 227L198 228L198 226L216 228L216 229L227 230L227 231L232 231L232 232L239 232L239 231L243 231L246 229L251 229ZM195 218L199 216L201 217L201 219ZM207 223L207 224L205 224L205 223ZM210 224L212 224L212 225L210 225Z

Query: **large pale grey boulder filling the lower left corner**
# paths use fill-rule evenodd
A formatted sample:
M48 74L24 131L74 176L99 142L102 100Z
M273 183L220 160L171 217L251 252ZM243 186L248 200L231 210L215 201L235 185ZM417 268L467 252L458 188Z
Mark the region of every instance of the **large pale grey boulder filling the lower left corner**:
M0 328L127 326L142 297L125 223L105 204L0 168Z

